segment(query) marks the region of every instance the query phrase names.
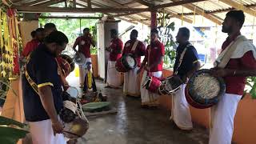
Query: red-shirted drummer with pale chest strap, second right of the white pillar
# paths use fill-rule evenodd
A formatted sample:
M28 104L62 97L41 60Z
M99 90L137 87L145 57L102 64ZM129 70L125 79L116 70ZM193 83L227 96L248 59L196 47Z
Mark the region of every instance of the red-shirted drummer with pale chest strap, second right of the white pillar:
M138 31L132 30L130 33L130 40L126 42L124 50L122 51L122 55L125 54L133 54L134 58L137 60L137 67L134 70L130 70L129 72L124 74L124 86L123 93L125 95L139 97L140 89L139 89L139 77L137 74L137 70L141 66L141 56L146 54L146 47L144 44L137 40ZM132 50L134 47L134 50Z

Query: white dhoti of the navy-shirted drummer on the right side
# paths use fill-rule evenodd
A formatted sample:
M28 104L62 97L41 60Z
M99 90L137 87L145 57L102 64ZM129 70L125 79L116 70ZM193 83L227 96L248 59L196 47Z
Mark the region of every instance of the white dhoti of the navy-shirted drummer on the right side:
M182 130L193 129L191 121L190 107L186 102L185 87L183 84L181 90L178 90L172 97L172 107L170 119L173 119L175 124Z

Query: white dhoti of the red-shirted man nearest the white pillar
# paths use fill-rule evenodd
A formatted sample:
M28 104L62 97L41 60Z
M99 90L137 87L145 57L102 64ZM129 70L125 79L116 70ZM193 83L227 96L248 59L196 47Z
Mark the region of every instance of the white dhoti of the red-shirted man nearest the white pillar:
M107 64L107 86L118 87L122 85L121 73L116 70L115 63L116 61L109 61Z

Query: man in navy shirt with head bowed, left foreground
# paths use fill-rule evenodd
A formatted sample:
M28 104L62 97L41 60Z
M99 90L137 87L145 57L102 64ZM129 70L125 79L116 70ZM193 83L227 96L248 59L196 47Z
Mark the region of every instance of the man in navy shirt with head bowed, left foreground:
M50 33L44 43L30 54L22 75L23 104L33 143L64 144L62 82L56 57L65 50L68 38L60 31Z

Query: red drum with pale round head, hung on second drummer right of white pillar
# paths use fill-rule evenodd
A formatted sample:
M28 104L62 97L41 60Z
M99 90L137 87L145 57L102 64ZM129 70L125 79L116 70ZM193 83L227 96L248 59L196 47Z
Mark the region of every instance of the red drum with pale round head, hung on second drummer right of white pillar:
M115 67L118 72L126 73L137 66L137 61L132 54L125 54L117 60Z

